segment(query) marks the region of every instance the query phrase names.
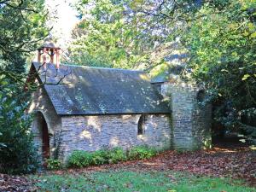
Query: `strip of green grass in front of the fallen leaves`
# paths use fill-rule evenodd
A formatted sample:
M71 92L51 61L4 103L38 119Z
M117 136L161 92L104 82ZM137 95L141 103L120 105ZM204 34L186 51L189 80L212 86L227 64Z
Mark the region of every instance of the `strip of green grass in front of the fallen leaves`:
M41 175L39 191L166 191L166 192L253 192L240 181L228 178L196 177L179 172L94 172L78 175Z

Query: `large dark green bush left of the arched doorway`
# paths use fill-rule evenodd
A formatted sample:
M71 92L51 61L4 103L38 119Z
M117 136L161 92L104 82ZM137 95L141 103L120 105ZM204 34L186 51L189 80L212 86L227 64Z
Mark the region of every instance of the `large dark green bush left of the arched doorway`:
M32 118L24 113L26 103L13 94L0 92L0 172L35 172L38 154L30 131Z

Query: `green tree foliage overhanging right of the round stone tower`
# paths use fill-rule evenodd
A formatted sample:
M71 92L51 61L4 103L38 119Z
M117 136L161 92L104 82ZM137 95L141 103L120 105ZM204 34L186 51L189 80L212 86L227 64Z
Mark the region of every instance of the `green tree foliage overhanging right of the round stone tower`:
M215 119L232 130L247 129L245 119L256 115L254 7L246 0L206 3L191 14L194 19L182 34L189 79L205 84L206 102L216 103ZM256 132L256 123L252 126Z

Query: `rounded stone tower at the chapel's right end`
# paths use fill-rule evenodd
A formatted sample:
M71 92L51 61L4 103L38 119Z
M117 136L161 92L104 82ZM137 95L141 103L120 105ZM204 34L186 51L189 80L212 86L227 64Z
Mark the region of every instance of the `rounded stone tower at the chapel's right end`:
M195 84L162 84L162 95L169 97L172 108L172 148L194 150L210 147L211 105L201 106Z

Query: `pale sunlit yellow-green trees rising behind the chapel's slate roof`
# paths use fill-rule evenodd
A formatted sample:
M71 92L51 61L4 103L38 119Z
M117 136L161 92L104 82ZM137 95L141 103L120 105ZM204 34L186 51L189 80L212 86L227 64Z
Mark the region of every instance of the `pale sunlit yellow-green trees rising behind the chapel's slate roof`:
M181 3L166 0L79 1L76 8L81 21L73 30L73 44L69 48L71 62L148 70L165 63L167 53L160 54L160 50L170 48L169 43L178 36L182 26L177 23L184 20L177 15L185 15L188 2L193 1L178 2Z

